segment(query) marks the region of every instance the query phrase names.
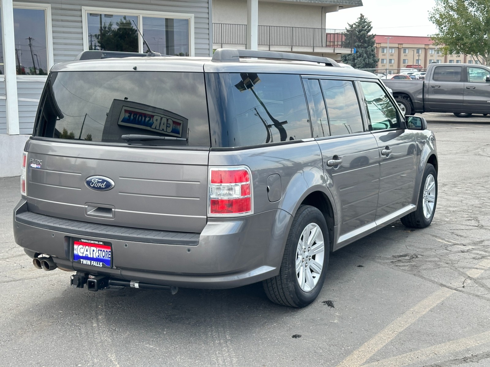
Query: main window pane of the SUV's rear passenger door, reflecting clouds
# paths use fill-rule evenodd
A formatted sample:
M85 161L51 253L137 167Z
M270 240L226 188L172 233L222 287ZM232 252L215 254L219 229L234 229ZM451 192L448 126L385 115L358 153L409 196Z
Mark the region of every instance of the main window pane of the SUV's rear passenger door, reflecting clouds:
M320 80L327 104L331 135L364 132L361 108L354 84L346 80Z

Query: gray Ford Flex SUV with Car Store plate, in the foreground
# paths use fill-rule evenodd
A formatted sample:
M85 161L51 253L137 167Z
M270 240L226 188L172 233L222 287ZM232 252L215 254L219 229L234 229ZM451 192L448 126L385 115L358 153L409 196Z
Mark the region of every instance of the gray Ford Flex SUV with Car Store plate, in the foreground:
M372 73L236 49L78 59L49 73L13 215L34 266L76 288L262 281L303 307L331 251L433 219L434 134Z

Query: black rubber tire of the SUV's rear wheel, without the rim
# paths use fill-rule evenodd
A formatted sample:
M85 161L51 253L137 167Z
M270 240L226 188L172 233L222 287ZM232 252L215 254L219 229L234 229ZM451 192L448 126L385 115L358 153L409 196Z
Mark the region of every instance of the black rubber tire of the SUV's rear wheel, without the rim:
M303 229L310 223L316 223L321 229L324 243L323 267L317 284L309 292L305 292L299 286L296 275L296 250ZM325 274L328 268L330 255L330 244L328 239L328 228L325 217L314 206L302 205L294 216L291 229L289 230L286 248L282 258L279 275L266 279L262 282L267 297L274 303L291 307L305 307L313 302L319 295Z

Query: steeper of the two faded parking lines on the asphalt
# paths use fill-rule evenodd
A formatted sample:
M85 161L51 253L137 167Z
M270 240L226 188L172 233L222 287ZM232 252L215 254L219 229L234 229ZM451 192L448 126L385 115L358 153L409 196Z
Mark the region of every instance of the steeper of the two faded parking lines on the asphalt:
M484 259L483 261L479 262L477 266L489 269L490 259ZM470 269L466 272L466 274L470 277L476 278L487 269ZM337 367L360 367L372 355L374 355L374 353L376 353L383 346L392 341L392 339L395 338L401 331L405 330L408 326L417 321L421 316L429 312L434 306L436 306L438 303L448 298L455 292L456 291L449 288L441 288L429 297L421 300L414 307L412 307L398 319L396 319L383 330L381 330L376 336L363 344L359 349L357 349L351 355L345 358ZM417 354L417 352L421 351L415 351L413 353ZM395 367L396 365L389 366Z

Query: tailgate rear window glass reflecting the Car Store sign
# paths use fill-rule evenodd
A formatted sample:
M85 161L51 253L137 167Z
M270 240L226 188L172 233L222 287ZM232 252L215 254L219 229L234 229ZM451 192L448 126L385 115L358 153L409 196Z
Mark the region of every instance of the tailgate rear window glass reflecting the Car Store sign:
M67 71L50 74L34 135L126 142L123 135L165 137L132 144L208 146L202 73Z

